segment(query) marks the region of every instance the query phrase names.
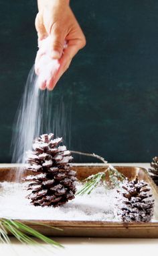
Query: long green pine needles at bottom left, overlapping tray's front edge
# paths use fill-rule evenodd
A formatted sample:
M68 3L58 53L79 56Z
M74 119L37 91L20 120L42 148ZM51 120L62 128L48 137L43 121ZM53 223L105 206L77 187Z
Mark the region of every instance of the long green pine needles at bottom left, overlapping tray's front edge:
M32 223L32 222L31 222ZM47 226L43 225L42 226ZM59 229L59 228L57 228ZM29 226L18 222L17 220L9 220L6 218L0 219L0 242L2 243L10 243L8 232L13 234L15 238L21 243L25 243L27 245L40 245L34 238L38 238L44 243L48 245L52 245L53 247L63 247L60 243L52 240L48 236L44 236L44 234L38 232L37 230L30 228Z

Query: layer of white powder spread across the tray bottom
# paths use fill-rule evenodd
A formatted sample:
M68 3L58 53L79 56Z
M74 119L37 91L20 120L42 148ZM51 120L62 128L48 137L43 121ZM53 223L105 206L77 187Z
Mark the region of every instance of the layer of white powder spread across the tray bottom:
M76 195L60 207L40 207L29 204L25 184L0 183L0 218L23 220L96 220L118 221L114 216L116 189L98 186L90 195ZM77 189L80 184L77 184Z

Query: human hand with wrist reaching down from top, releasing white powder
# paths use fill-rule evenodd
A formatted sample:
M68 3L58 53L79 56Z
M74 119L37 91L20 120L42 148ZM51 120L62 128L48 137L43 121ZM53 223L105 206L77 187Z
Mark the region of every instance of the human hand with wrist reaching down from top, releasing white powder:
M46 62L49 69L51 66L52 68L56 66L55 71L46 71L45 78L40 79L40 88L43 90L46 88L53 90L60 77L68 69L74 55L86 44L84 34L68 2L68 0L38 1L39 13L35 19L35 28L39 51L35 60L35 72L37 75L44 73L47 68ZM49 49L46 52L42 47L45 38L50 38ZM55 61L54 65L51 64L52 61ZM43 67L45 70L42 71Z

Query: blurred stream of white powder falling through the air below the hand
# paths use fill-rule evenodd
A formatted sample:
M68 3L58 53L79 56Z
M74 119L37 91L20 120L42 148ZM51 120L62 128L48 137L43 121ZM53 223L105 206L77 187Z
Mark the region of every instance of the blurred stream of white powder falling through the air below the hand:
M50 132L51 109L48 92L37 87L34 67L31 69L25 85L23 98L15 117L15 128L11 142L12 162L24 163L25 154L32 148L33 139L42 133ZM20 181L23 168L17 173ZM19 175L19 176L18 176Z

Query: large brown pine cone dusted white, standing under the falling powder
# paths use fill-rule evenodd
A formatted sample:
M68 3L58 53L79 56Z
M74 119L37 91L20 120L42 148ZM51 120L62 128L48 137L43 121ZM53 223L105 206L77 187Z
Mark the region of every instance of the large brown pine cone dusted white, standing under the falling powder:
M33 205L54 207L74 198L76 172L71 169L70 151L60 146L62 138L54 139L52 133L41 135L33 141L33 150L27 152L26 170L35 172L28 175L27 196Z

